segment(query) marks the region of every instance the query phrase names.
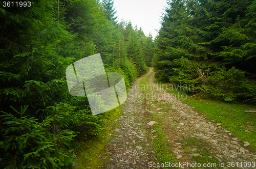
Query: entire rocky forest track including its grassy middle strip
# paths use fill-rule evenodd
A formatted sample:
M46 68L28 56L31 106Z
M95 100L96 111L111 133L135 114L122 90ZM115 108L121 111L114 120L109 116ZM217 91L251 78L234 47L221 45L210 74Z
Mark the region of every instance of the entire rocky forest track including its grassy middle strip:
M110 126L111 151L103 168L256 167L250 143L178 95L167 93L153 79L150 68L133 83L117 125Z

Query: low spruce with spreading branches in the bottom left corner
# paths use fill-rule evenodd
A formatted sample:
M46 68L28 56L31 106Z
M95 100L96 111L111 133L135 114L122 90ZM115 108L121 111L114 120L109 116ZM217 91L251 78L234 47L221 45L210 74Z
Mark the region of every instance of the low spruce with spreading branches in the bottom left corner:
M56 125L68 111L57 108L44 122L38 123L37 119L25 116L27 108L28 106L21 107L18 112L12 107L19 117L5 112L1 116L5 121L3 124L7 126L2 130L4 137L0 142L0 148L5 150L1 155L1 165L4 168L71 166L72 161L61 146L72 140L74 132L61 130L60 126ZM49 132L50 129L54 132Z

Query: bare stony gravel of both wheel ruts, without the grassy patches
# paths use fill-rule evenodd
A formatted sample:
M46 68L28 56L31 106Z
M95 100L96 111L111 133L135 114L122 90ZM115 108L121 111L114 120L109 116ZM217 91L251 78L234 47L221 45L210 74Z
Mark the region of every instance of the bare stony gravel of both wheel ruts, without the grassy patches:
M151 71L152 68L145 76ZM138 85L145 76L138 79L133 86ZM153 78L154 74L149 82L152 86L155 85ZM186 137L194 137L204 140L214 150L209 158L215 157L220 162L226 163L225 167L215 168L236 168L227 167L228 161L238 162L238 168L256 167L239 166L241 162L255 162L256 155L247 150L248 142L242 143L230 131L222 128L221 124L207 121L205 116L197 112L194 107L170 96L161 88L154 90L154 94L169 96L158 97L158 103L155 103L154 99L140 99L138 96L141 93L145 94L144 91L130 89L122 108L122 116L117 119L119 126L113 129L115 136L110 140L113 151L109 155L106 168L154 168L148 166L150 161L157 162L152 146L152 140L157 136L157 132L153 130L152 125L147 124L152 121L152 114L163 117L164 120L161 123L170 131L166 138L173 145L173 152L179 162L191 162L192 156L204 156L204 154L193 153L196 151L193 147L180 143L180 140ZM163 104L170 110L159 108ZM184 152L187 149L191 151Z

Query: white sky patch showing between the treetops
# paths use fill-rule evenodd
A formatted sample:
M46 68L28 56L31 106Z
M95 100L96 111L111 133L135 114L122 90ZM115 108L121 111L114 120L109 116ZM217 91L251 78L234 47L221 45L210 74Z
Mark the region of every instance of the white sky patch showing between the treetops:
M166 6L166 0L114 0L118 21L131 20L133 27L141 27L146 36L151 32L153 39L157 35L155 29L161 27L160 20Z

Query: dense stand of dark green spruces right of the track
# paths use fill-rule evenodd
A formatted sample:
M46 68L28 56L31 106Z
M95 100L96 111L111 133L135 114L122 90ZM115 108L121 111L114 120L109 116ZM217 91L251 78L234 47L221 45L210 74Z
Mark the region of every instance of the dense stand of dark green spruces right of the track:
M227 101L255 97L255 3L169 1L156 40L156 78Z

